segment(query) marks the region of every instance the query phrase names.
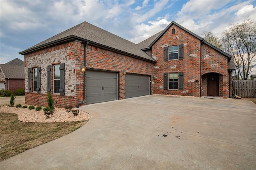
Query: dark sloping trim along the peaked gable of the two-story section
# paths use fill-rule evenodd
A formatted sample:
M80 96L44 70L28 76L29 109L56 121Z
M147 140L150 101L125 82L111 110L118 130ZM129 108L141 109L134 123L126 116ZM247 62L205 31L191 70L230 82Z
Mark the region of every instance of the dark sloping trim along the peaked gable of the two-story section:
M215 47L214 45L212 45L212 44L210 44L210 43L204 41L204 39L203 39L202 37L196 35L195 33L191 32L190 30L184 28L183 26L181 26L180 24L178 24L178 23L176 23L176 22L174 22L174 21L172 21L172 22L157 36L157 38L149 45L149 48L151 48L151 47L154 45L154 43L156 43L156 42L159 40L159 38L161 38L161 37L164 35L164 33L165 33L173 24L176 25L176 26L178 26L178 27L181 28L182 30L188 32L188 33L191 34L192 36L198 38L202 43L205 43L205 44L209 45L210 47L214 48L216 51L222 53L223 55L225 55L226 57L228 57L228 61L230 61L231 55L229 55L228 53L225 53L225 52L222 51L221 49L218 49L218 48ZM148 39L151 39L151 37L148 38ZM146 40L144 40L144 41L146 41Z

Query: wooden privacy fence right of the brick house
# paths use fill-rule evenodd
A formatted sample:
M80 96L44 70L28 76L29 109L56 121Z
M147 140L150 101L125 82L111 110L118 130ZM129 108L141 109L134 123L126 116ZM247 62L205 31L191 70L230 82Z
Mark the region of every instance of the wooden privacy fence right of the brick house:
M256 80L233 80L233 93L240 97L256 97Z

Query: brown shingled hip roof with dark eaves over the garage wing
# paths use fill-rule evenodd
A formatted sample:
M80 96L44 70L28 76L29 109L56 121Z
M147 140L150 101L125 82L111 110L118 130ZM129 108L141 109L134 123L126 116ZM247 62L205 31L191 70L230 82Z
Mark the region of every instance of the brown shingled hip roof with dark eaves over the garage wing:
M52 38L49 38L24 51L21 51L20 54L24 55L32 51L37 51L42 48L62 42L67 42L70 40L89 42L100 47L118 51L125 55L144 59L153 63L156 62L150 55L142 51L140 47L135 43L125 40L92 24L89 24L88 22L82 22L81 24L78 24L77 26L74 26L64 32L61 32L60 34L57 34Z

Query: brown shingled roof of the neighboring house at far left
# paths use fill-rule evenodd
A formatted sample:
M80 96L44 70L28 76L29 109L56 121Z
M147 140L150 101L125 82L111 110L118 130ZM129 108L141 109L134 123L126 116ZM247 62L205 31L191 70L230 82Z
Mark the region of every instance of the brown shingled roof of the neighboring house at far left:
M6 79L25 79L24 65L0 64Z

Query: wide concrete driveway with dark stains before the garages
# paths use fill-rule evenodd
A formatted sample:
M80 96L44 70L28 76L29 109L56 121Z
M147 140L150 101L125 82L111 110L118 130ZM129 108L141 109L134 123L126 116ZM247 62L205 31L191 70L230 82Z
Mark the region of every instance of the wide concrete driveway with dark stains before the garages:
M256 105L150 95L80 107L78 130L1 162L4 169L256 169Z

